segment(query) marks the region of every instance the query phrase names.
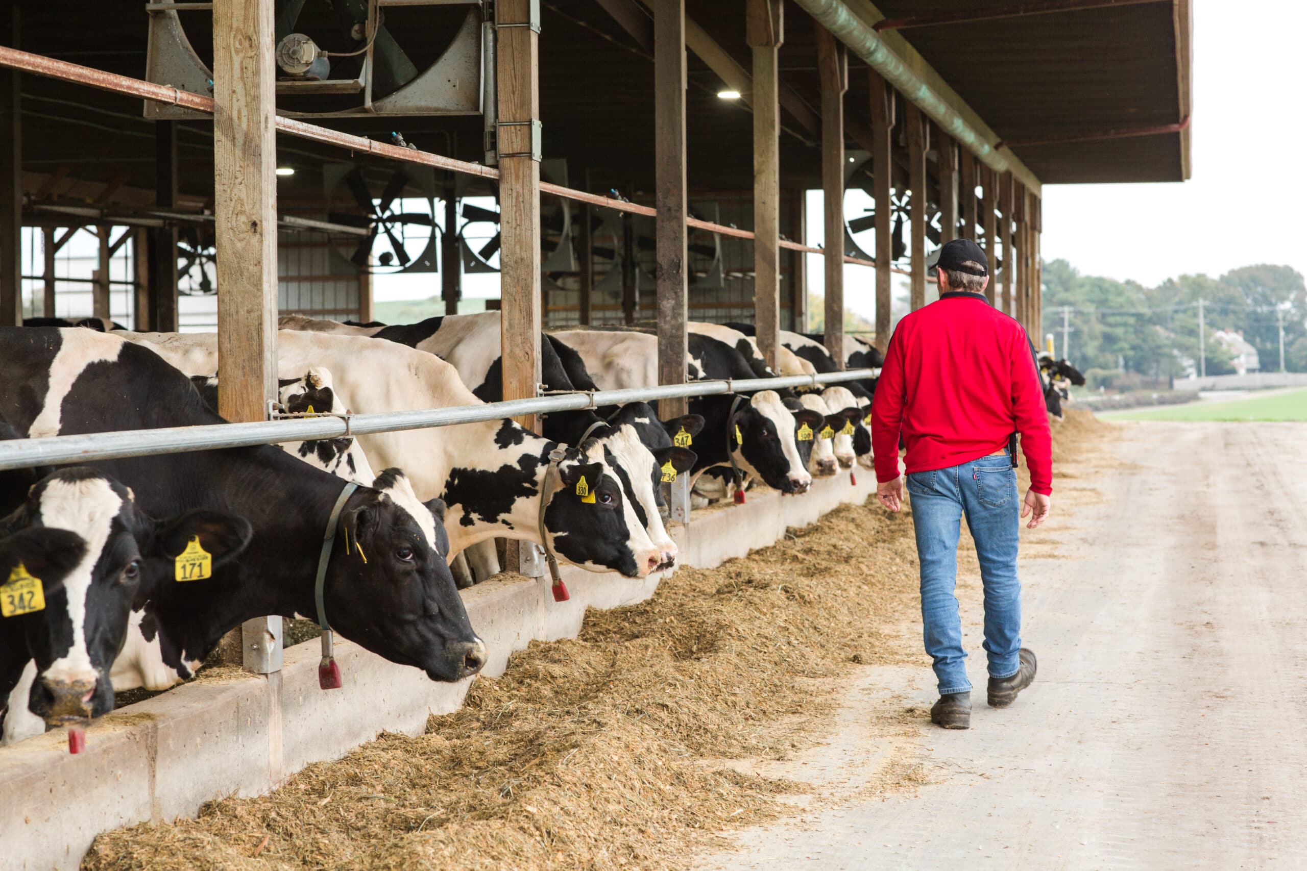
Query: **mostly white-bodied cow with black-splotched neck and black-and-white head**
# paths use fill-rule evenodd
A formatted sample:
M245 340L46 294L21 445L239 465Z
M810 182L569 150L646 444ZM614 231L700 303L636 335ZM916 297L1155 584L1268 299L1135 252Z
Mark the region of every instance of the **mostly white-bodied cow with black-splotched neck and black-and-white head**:
M217 366L217 337L212 333L123 336L183 372L212 372ZM358 414L477 404L452 366L396 342L281 330L277 356L286 376L311 366L331 371L337 401ZM451 554L497 537L540 545L544 529L561 560L588 571L646 577L663 563L601 444L566 449L558 464L565 487L548 503L541 524L540 494L550 452L559 443L512 420L370 434L358 440L375 465L405 469L418 495L448 504L444 528ZM580 478L586 478L584 486ZM595 496L586 494L582 501L578 490L595 491Z

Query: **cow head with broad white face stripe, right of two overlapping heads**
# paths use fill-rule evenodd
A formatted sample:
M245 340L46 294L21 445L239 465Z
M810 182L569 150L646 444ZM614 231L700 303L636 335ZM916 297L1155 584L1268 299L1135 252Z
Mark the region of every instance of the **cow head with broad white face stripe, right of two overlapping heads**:
M804 469L795 431L823 418L810 409L791 411L775 390L759 390L740 404L727 422L727 447L736 465L783 494L806 492L813 478Z

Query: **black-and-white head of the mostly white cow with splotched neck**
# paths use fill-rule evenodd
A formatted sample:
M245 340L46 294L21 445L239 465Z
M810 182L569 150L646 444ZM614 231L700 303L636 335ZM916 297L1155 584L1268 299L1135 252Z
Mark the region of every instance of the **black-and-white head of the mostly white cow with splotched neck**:
M610 456L593 440L566 449L541 531L569 563L591 572L646 577L663 564L663 550L650 539ZM627 483L634 482L627 478Z

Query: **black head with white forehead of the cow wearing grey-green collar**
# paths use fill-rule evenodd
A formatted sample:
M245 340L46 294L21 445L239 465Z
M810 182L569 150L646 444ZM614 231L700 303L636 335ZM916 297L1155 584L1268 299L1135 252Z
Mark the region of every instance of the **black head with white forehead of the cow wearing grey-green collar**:
M341 512L324 585L332 628L431 680L471 676L486 662L446 563L444 503L418 500L399 469L354 492Z

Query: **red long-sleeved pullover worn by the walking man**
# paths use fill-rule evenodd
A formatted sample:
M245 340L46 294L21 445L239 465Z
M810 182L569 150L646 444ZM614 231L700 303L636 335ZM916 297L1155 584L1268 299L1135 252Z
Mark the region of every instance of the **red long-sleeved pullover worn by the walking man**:
M872 404L880 482L898 478L901 431L910 473L988 456L1019 432L1031 490L1052 494L1052 439L1034 347L1021 324L984 296L950 291L899 321Z

